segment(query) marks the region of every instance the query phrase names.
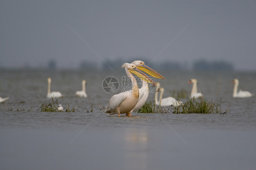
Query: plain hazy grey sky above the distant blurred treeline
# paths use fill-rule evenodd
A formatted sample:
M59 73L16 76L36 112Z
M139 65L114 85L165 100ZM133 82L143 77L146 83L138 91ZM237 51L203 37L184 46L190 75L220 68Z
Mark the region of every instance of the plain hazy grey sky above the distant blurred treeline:
M255 0L0 0L0 23L1 67L143 57L256 70Z

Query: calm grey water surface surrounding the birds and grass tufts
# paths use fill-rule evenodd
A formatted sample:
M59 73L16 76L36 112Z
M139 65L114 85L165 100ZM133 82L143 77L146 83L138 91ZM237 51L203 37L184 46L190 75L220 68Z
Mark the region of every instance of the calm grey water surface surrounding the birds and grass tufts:
M256 94L254 72L159 71L165 80L164 97L171 90L190 92L190 78L207 100L218 100L220 114L138 114L126 117L101 112L113 94L102 89L107 76L120 84L124 70L1 70L0 169L3 170L254 170L256 168L256 97L233 99L231 80L239 90ZM40 112L51 90L60 91L58 102L75 112ZM88 98L75 97L87 80ZM220 80L219 80L220 79ZM122 88L119 87L118 92ZM149 94L148 100L154 100ZM181 99L185 101L186 99ZM91 110L93 112L87 113ZM13 111L8 111L12 109ZM17 110L22 111L17 111Z

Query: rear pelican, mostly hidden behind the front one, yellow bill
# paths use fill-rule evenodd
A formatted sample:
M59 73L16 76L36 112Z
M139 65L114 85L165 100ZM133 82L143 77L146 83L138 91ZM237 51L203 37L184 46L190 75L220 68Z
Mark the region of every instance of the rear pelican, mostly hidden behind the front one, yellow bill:
M132 64L136 65L139 70L142 70L155 78L164 79L164 77L162 75L160 75L158 72L156 72L155 70L153 70L150 67L148 67L147 65L145 65L145 63L141 60L135 60L132 62ZM146 81L142 80L142 86L139 89L138 103L133 108L131 113L133 111L140 109L145 104L145 102L148 99L148 94L149 94L148 83Z

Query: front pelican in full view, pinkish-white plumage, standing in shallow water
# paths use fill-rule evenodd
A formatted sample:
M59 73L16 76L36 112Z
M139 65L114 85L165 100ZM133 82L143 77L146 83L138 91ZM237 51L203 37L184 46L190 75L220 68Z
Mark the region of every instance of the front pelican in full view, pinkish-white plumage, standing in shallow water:
M131 110L136 106L139 98L137 81L133 77L132 73L143 80L154 84L154 81L149 79L147 75L143 74L136 67L136 65L129 63L124 63L122 65L127 76L131 79L133 87L132 90L113 95L108 102L107 109L105 110L106 113L118 113L118 116L123 113L126 113L128 116L131 115Z

